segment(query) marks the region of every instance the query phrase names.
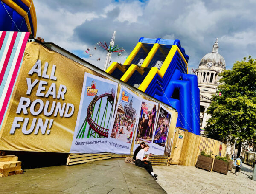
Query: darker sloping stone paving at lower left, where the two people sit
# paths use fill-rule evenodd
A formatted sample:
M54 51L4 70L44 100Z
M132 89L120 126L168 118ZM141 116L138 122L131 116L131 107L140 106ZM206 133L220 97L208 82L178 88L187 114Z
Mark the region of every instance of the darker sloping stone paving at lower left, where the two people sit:
M145 171L124 160L26 169L0 178L0 194L166 194Z

